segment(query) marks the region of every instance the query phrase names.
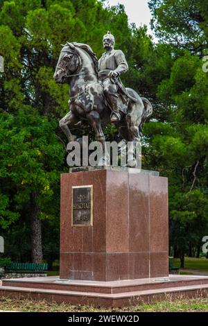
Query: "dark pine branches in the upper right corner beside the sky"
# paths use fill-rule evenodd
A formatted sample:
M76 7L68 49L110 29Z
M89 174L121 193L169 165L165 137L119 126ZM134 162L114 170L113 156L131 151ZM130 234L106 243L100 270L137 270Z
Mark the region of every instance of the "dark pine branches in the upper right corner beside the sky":
M160 40L203 55L207 49L207 1L150 0L152 27Z

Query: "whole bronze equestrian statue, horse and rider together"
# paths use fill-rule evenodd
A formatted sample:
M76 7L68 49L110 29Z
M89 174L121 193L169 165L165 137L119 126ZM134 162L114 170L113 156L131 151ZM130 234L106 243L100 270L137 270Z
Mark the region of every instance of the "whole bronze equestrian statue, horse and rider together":
M87 44L67 42L63 46L54 79L69 83L70 99L69 113L60 120L60 128L68 141L73 141L76 137L70 126L87 121L94 128L96 140L104 143L102 126L113 121L125 141L139 141L142 125L153 107L146 98L121 84L118 77L128 65L123 52L113 49L113 35L104 35L103 46L107 51L99 62ZM133 157L128 165L136 166Z

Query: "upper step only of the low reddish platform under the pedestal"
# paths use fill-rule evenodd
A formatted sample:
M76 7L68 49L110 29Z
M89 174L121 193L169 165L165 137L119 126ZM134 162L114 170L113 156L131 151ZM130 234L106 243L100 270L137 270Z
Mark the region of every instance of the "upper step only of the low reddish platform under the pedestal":
M58 277L49 279L44 277L39 280L40 277L34 277L31 279L22 278L14 280L3 280L3 286L12 286L18 288L32 288L32 289L48 289L58 291L78 291L83 293L128 293L134 291L148 291L154 289L168 289L176 288L178 286L191 286L191 285L205 285L208 286L208 277L188 276L182 277L171 276L166 278L151 278L140 280L125 280L114 282L93 282L93 281L78 281L68 280L61 281ZM45 281L46 280L46 281ZM58 281L58 282L57 282Z

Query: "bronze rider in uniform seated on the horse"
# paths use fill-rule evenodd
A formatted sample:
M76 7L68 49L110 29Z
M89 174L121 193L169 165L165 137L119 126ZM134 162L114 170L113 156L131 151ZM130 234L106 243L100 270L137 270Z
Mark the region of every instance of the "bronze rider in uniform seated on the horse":
M111 121L117 122L121 116L118 103L119 86L115 82L123 72L128 71L128 64L123 52L114 50L114 44L114 36L108 31L103 36L103 48L106 51L98 60L98 74L99 80L103 82L103 92L112 108Z

